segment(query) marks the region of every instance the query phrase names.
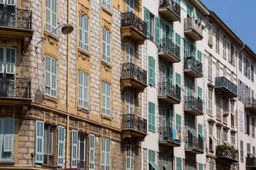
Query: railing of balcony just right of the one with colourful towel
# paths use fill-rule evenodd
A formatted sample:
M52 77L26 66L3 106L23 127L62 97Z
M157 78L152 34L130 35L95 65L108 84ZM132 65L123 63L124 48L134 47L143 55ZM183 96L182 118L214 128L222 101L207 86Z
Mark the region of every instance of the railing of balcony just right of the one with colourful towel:
M203 152L203 146L203 139L195 136L185 137L185 147L187 149L197 149Z

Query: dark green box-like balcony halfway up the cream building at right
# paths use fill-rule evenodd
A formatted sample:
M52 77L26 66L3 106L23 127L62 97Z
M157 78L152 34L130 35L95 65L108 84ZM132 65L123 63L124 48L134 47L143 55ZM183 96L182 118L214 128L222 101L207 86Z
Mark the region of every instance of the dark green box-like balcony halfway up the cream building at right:
M228 96L228 98L238 96L238 86L225 77L215 77L215 91Z

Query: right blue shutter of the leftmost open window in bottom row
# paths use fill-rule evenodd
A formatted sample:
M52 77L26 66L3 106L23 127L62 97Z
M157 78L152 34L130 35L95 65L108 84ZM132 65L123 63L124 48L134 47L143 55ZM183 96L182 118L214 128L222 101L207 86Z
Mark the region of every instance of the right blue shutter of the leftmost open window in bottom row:
M64 141L65 141L65 128L58 127L58 166L64 164Z

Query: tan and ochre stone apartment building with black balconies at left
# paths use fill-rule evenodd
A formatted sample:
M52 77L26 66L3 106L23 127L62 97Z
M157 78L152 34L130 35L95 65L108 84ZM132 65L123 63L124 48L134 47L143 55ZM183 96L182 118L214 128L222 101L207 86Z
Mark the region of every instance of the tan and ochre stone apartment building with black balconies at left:
M0 5L0 169L142 169L142 1Z

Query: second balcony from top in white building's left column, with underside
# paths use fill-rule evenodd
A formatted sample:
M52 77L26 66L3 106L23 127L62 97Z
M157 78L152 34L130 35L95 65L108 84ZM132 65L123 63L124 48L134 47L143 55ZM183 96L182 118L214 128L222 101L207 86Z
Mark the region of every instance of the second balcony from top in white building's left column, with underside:
M168 38L161 39L158 55L168 62L174 63L181 61L180 48Z

